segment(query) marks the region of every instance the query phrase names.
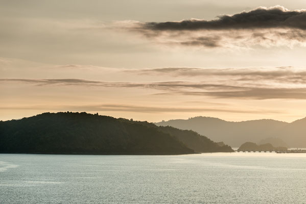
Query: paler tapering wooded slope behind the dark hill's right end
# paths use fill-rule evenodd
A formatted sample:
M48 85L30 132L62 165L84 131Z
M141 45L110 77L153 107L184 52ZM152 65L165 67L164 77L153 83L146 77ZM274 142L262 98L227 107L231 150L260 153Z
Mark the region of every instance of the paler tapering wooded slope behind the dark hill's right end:
M230 146L221 146L194 131L180 130L171 126L159 126L158 129L164 133L174 135L186 144L187 147L194 149L196 152L233 152Z

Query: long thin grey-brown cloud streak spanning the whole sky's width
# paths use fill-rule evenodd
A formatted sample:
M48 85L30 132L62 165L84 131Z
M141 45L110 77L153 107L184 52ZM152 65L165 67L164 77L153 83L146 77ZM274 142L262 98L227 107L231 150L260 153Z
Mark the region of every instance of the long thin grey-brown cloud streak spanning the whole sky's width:
M261 75L261 73L259 73ZM273 75L270 76L271 78ZM162 91L157 94L201 95L214 98L240 99L306 99L306 87L280 87L269 85L211 84L205 82L102 82L82 79L0 79L3 83L29 83L36 86L97 86L107 88L146 88ZM249 85L250 84L250 85ZM156 93L153 93L156 94Z

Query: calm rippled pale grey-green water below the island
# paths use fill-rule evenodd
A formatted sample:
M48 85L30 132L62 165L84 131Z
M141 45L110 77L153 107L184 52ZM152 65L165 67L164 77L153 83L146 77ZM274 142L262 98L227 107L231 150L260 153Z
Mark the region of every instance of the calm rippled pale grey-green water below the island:
M0 154L0 203L306 203L306 154Z

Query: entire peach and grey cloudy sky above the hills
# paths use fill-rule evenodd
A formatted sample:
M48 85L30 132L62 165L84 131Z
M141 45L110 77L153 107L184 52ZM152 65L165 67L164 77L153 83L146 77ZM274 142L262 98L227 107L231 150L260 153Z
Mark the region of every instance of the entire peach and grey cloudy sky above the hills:
M0 0L0 120L306 117L305 1Z

